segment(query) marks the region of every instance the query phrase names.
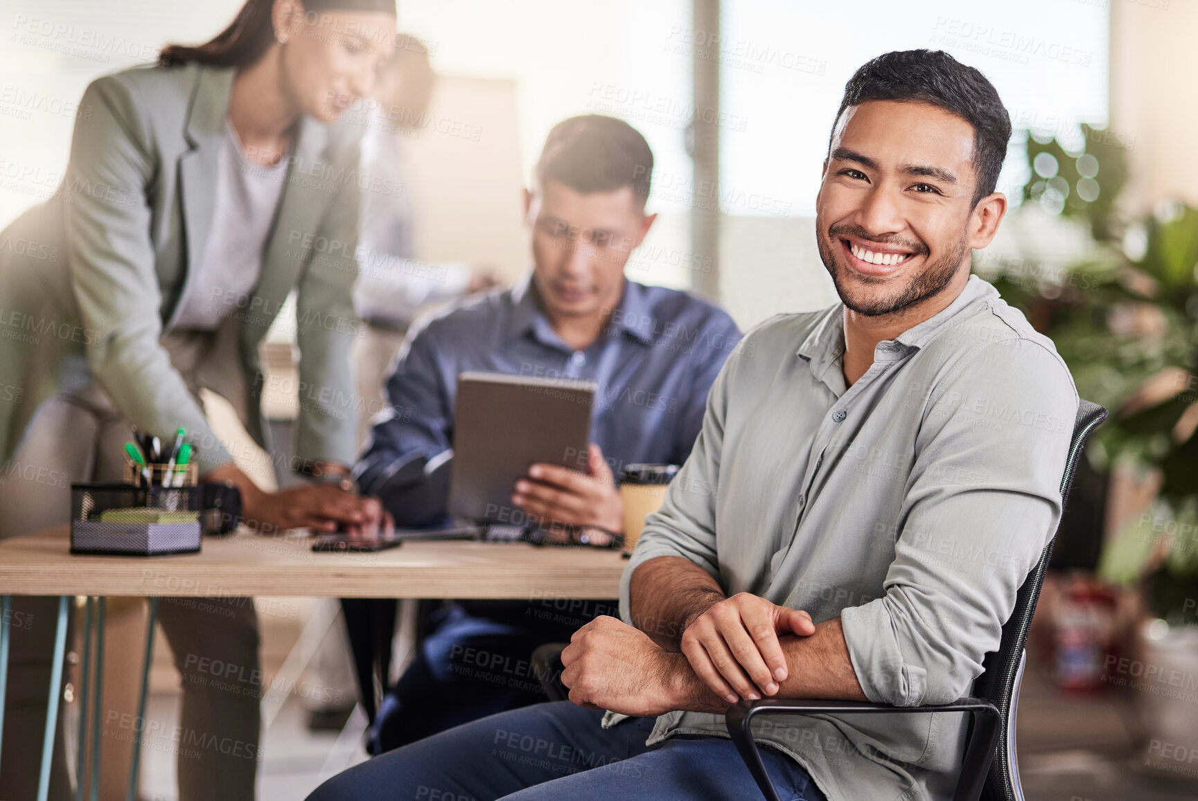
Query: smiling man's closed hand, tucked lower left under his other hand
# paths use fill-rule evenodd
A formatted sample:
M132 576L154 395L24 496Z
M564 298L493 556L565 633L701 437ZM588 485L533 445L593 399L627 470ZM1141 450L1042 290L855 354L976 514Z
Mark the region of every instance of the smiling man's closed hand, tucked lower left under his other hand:
M679 708L690 669L682 654L665 650L616 618L601 615L574 632L562 651L562 684L586 709L658 716ZM692 675L692 674L691 674Z

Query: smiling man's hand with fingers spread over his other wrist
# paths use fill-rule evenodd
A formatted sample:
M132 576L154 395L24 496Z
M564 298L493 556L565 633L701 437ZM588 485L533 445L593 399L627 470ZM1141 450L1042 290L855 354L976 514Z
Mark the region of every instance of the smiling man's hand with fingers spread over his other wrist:
M738 593L686 621L682 653L695 674L730 703L773 696L787 676L780 633L815 633L811 615Z

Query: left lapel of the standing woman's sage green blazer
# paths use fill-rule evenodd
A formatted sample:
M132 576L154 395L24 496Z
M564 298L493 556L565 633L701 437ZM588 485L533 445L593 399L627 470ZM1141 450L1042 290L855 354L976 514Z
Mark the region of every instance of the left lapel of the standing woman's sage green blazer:
M179 195L183 211L187 263L183 289L175 298L175 308L167 323L168 329L174 327L181 311L179 301L187 297L187 291L195 280L195 273L204 259L204 248L212 233L217 171L220 147L224 144L232 78L232 69L201 67L196 79L195 97L183 134L192 148L179 159Z

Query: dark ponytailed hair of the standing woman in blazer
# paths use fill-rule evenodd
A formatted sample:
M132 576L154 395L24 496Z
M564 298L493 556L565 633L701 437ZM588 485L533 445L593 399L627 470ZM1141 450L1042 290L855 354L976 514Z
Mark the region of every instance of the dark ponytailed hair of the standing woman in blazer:
M395 0L297 0L305 12L382 11L395 13ZM204 44L168 44L158 54L158 63L174 67L189 62L216 67L244 67L258 61L274 42L271 10L274 0L246 0L229 28Z

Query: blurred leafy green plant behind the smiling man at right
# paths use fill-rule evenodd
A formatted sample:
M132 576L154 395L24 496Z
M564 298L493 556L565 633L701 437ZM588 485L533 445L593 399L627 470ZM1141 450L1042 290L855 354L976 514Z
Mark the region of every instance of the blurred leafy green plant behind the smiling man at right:
M1079 394L1111 409L1089 457L1158 475L1155 504L1107 544L1099 572L1138 584L1145 607L1131 657L1115 666L1142 711L1142 764L1184 776L1170 757L1198 748L1198 210L1162 202L1125 218L1121 140L1087 126L1081 139L1029 135L1016 214L1084 224L1089 255L1031 275L1018 261L978 272L1053 339Z

